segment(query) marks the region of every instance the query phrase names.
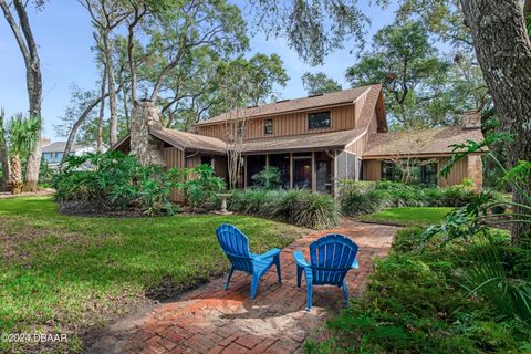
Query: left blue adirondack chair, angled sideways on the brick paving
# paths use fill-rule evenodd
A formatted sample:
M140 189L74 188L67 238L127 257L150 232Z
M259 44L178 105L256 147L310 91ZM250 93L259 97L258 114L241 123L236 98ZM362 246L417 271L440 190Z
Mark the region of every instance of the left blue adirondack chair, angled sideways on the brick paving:
M229 223L222 223L216 229L219 244L225 254L230 260L231 267L225 290L229 288L230 278L235 270L239 270L251 275L251 300L257 295L258 282L260 278L271 268L277 266L277 274L279 283L282 282L280 275L280 250L273 248L263 254L254 254L249 252L249 240L238 228Z

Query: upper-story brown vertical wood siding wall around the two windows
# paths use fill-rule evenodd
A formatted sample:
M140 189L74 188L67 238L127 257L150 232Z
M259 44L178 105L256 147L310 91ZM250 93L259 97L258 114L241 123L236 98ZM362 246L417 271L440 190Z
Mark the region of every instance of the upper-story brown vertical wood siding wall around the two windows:
M246 124L244 139L257 139L263 137L280 137L289 135L302 135L314 133L327 133L337 131L354 129L356 127L356 103L331 108L320 108L290 114L275 115L249 119ZM310 113L330 111L331 127L320 129L308 128L308 115ZM361 111L361 110L358 110ZM357 113L358 114L358 113ZM273 134L264 134L264 121L273 119ZM225 139L226 123L216 125L198 126L198 134Z

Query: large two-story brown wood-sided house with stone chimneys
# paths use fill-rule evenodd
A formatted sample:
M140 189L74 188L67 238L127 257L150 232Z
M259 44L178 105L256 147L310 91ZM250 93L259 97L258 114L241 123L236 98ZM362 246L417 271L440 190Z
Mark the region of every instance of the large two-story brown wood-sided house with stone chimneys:
M138 104L154 110L148 101ZM253 186L252 176L266 166L275 166L285 188L334 192L339 179L397 178L394 162L403 159L415 166L419 183L450 186L465 177L477 186L482 183L479 155L465 158L448 177L438 175L451 144L482 139L477 113L465 114L461 126L388 133L381 85L231 111L196 124L195 133L165 128L159 115L149 112L147 122L133 119L133 136L115 149L168 167L209 163L218 176L227 177L228 126L238 122L242 187Z

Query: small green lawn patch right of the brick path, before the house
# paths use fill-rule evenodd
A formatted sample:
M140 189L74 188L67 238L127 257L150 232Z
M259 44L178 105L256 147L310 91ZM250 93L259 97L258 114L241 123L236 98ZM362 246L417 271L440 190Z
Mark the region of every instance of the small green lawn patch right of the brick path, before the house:
M425 227L439 222L451 210L454 208L389 208L379 212L358 216L356 220Z

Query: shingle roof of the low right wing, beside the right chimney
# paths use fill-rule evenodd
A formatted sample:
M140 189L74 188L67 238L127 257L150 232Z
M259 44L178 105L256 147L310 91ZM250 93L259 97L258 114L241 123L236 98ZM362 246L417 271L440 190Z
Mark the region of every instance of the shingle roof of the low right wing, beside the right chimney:
M416 132L377 133L369 137L363 158L397 155L446 155L450 145L466 140L479 142L481 129L462 129L460 126L430 128Z

